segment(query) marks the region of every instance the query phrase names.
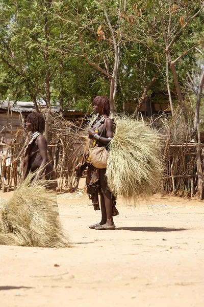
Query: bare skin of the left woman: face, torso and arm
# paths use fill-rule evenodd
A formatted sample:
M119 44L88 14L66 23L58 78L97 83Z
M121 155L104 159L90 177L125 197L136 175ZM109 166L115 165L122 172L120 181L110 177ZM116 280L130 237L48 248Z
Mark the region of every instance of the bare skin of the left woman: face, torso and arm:
M34 126L30 122L25 123L25 129L27 131L32 131L32 133L35 133L36 130L34 129ZM29 154L29 169L31 172L34 172L36 169L38 169L38 172L36 174L36 177L34 179L34 182L39 180L41 177L41 174L45 168L45 165L47 164L48 158L47 158L47 142L44 136L39 135L35 142L33 143L33 146L31 148L30 154Z

